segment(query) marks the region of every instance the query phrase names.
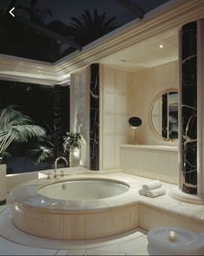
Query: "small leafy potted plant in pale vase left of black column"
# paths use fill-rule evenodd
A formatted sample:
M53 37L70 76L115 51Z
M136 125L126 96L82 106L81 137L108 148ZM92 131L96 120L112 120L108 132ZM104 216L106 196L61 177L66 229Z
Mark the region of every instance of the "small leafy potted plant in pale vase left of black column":
M78 159L74 158L74 152L79 152L81 144L83 143L80 133L70 132L64 136L63 148L64 152L69 154L69 167L79 165Z

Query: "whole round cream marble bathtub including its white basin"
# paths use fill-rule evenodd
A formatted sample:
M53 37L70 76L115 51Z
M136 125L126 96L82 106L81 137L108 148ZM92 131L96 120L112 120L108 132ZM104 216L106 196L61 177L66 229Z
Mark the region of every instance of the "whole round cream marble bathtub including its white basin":
M134 193L133 193L134 194ZM59 240L104 238L138 226L130 186L105 178L39 179L15 187L13 223L23 232Z

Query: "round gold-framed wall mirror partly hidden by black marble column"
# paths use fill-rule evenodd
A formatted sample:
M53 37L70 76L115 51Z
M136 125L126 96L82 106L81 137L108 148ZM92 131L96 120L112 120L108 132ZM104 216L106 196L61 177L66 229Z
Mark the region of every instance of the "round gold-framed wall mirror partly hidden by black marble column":
M150 123L164 140L178 139L178 91L169 89L154 100L150 109Z

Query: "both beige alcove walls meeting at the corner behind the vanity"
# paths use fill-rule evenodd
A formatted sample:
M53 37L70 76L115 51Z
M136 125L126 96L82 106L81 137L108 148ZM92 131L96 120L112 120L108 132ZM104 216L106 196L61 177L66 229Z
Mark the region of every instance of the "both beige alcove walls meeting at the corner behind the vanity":
M101 74L100 167L121 167L119 146L134 141L134 130L128 124L131 116L139 116L143 121L143 125L137 128L139 143L167 144L151 128L150 109L160 93L167 89L178 89L177 62L134 73L104 65Z

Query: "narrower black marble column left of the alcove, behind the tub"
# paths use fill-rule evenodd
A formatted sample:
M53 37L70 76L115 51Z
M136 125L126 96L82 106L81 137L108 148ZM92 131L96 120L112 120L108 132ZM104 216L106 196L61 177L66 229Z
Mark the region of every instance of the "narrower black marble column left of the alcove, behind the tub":
M90 66L90 170L99 170L99 64Z

